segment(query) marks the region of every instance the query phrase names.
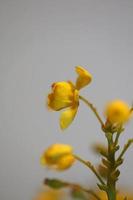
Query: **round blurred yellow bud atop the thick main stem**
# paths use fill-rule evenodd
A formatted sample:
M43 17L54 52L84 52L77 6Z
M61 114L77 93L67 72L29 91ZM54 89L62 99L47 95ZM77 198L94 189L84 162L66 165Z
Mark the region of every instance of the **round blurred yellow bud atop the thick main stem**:
M108 103L105 116L111 124L123 124L131 117L131 108L121 100Z

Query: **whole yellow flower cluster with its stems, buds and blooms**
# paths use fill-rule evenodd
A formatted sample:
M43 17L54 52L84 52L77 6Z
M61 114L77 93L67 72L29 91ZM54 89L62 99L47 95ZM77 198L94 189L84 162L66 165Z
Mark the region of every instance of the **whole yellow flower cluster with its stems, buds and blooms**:
M125 123L128 122L132 116L133 108L122 100L113 100L105 106L104 122L93 104L80 95L80 90L92 81L92 75L81 66L76 67L76 73L78 77L75 83L71 81L62 81L52 84L52 92L48 95L47 105L48 108L53 111L63 110L60 116L60 127L62 130L68 128L74 120L80 100L93 111L97 120L100 122L101 129L105 133L105 138L107 140L106 147L101 145L95 147L95 151L99 152L99 155L102 156L102 163L100 163L99 169L96 169L90 161L85 161L75 155L70 145L56 143L44 151L41 157L41 164L62 171L70 168L75 160L78 160L96 175L99 181L97 186L103 193L97 195L97 193L92 190L87 190L75 184L69 184L55 179L46 181L46 183L53 188L70 186L74 188L74 190L75 188L78 189L78 192L79 190L87 192L98 200L103 198L108 200L116 200L116 198L121 199L123 197L118 195L116 190L116 182L120 175L118 167L123 163L123 155L133 143L133 139L127 141L117 158L116 152L120 147L118 144L119 137L124 131L123 127ZM101 194L102 197L100 197ZM80 194L80 196L82 195Z

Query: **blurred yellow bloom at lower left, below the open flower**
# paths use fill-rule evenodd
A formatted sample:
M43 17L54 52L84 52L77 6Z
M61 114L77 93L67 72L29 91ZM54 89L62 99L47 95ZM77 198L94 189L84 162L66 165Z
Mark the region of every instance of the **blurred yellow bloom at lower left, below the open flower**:
M41 164L56 170L68 169L75 161L72 153L72 147L67 144L53 144L43 153Z

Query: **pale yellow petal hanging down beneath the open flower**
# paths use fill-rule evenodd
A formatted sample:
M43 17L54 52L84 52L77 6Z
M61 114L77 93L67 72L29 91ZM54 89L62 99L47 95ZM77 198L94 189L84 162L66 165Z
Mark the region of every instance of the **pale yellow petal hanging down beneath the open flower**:
M74 107L72 106L68 108L67 110L61 113L60 127L62 130L66 129L72 123L77 113L77 110L78 110L78 104Z

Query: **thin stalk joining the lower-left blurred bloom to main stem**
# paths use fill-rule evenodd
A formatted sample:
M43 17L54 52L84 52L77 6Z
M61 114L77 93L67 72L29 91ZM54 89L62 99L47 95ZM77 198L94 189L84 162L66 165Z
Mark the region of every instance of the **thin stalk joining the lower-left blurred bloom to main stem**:
M80 158L77 155L73 155L73 156L75 157L76 160L80 161L81 163L83 163L84 165L86 165L87 167L89 167L89 169L96 175L96 177L98 178L98 180L100 181L100 183L102 185L105 185L104 181L102 180L102 178L100 177L100 175L96 171L95 167L89 161L85 161L85 160L83 160L82 158Z

